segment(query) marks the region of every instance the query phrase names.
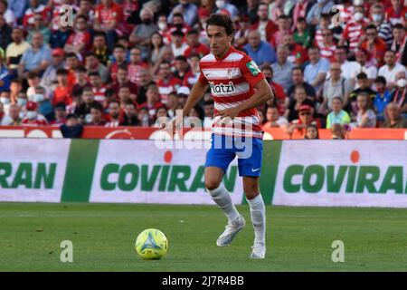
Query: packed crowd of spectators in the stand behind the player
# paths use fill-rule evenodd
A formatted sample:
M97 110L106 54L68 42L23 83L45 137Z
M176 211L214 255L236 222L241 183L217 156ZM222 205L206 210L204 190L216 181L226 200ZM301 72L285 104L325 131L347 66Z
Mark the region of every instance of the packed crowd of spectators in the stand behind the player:
M407 128L404 0L0 0L0 124L154 126L182 109L209 53L205 20L275 92L263 127ZM73 24L61 17L73 8ZM336 5L342 5L337 7ZM70 15L70 14L68 14ZM211 126L210 92L191 116ZM188 125L188 124L186 124ZM97 130L97 129L95 129Z

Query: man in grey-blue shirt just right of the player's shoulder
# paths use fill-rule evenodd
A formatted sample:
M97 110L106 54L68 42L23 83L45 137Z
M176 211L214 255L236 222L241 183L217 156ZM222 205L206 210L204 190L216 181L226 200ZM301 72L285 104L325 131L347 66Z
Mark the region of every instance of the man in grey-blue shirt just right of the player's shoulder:
M289 90L292 85L291 72L294 64L288 61L289 48L286 45L281 45L277 49L277 62L271 65L274 72L274 82L279 83L284 90Z

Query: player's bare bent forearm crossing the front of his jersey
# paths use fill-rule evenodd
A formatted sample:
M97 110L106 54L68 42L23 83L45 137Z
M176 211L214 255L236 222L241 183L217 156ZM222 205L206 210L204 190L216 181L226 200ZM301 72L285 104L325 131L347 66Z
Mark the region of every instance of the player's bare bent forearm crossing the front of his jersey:
M269 83L265 79L257 82L254 87L256 88L256 92L246 102L242 102L241 105L234 108L218 111L215 116L221 116L222 118L234 118L241 111L257 108L263 103L268 102L269 100L274 98L274 93L271 90Z

